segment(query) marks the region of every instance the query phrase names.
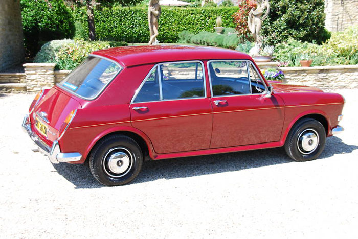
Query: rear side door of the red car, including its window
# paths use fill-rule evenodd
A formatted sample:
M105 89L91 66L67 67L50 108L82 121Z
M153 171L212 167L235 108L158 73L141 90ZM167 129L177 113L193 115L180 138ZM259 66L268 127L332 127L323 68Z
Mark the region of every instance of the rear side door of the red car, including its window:
M149 137L156 153L209 148L212 108L204 72L201 61L157 64L134 95L131 124Z

